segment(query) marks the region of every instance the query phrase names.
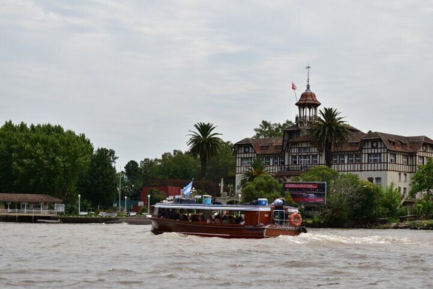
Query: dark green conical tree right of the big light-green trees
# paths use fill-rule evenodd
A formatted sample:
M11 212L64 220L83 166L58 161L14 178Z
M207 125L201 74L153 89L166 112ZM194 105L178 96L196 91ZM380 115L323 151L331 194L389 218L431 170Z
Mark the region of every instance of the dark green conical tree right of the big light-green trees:
M89 169L81 182L81 192L94 208L110 206L116 199L116 159L114 150L106 148L98 148L91 157Z

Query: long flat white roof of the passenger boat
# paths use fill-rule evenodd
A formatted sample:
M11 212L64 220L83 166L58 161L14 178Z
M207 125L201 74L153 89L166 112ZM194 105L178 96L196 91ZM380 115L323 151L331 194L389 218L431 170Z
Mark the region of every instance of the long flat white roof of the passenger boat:
M257 205L206 205L206 204L168 204L157 203L156 208L164 209L187 209L187 210L209 210L209 211L255 211L255 212L270 212L271 206ZM298 208L284 207L289 212L297 212Z

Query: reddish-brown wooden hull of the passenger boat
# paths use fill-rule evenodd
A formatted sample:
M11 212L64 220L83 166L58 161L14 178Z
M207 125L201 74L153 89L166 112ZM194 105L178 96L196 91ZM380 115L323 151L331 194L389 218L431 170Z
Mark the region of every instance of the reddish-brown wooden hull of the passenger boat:
M176 232L187 235L220 238L269 238L283 235L297 236L306 232L304 227L257 225L243 226L240 224L207 224L205 222L190 222L164 218L150 217L152 231L155 234Z

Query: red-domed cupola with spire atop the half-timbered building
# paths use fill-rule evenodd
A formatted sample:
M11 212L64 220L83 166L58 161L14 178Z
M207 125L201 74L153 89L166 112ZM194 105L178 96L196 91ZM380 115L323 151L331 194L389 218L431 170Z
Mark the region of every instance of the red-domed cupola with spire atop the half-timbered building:
M317 121L317 107L321 105L314 92L310 90L310 66L307 66L306 69L308 70L307 89L296 103L296 106L298 106L299 109L299 115L296 117L296 122L298 122L300 126L308 126L311 122Z

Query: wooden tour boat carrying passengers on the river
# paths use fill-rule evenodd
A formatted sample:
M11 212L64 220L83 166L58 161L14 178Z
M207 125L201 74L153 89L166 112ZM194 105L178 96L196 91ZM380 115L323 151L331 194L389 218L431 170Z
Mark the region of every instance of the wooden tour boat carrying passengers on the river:
M268 205L157 203L152 232L221 238L269 238L306 233L297 208Z

